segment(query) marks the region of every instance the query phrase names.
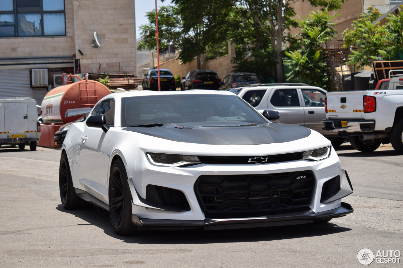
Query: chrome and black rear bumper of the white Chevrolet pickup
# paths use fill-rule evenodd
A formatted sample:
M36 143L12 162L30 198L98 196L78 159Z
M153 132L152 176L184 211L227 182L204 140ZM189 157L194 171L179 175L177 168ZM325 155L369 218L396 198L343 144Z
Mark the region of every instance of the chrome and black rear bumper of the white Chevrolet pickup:
M341 127L341 121L347 121L347 128ZM375 120L343 120L325 119L322 121L324 130L332 132L373 132L375 130Z

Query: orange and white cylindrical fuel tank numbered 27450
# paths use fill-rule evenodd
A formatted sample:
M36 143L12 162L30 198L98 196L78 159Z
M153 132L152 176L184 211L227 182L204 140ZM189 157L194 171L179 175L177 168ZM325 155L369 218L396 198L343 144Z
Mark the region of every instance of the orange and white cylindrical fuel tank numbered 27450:
M73 122L81 115L64 117L67 109L94 107L96 103L110 94L110 90L100 82L81 80L69 85L56 87L46 94L42 101L42 119L44 124L60 125Z

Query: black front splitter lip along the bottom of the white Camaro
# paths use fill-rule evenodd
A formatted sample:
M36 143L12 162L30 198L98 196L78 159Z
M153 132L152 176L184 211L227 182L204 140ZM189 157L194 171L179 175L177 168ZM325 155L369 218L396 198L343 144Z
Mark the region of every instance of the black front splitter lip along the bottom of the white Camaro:
M308 210L303 212L268 215L253 218L205 219L204 221L141 219L136 215L132 215L132 221L133 224L144 227L145 229L242 229L313 223L315 220L326 220L342 217L347 214L353 213L353 211L354 210L350 204L342 202L339 208L334 208L322 212L314 212L313 210Z

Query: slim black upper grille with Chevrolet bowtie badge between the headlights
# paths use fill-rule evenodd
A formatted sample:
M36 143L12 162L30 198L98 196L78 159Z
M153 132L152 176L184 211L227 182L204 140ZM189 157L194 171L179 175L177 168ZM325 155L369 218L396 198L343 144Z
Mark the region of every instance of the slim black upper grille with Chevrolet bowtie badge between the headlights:
M266 163L278 163L294 160L301 160L303 158L303 152L287 153L280 155L264 155L260 157L254 156L198 156L200 162L203 164L266 164ZM251 159L251 162L249 162ZM267 160L266 160L267 159Z

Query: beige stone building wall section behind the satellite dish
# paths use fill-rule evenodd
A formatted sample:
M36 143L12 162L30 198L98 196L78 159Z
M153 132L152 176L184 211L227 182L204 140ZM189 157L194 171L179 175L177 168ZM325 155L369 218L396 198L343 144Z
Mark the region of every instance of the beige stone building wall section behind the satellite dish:
M135 14L133 0L80 0L74 1L74 29L76 53L81 72L136 74ZM91 44L94 31L102 47Z

